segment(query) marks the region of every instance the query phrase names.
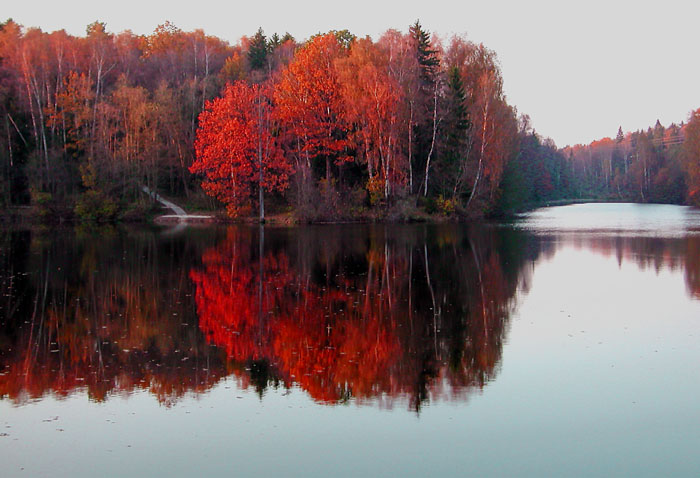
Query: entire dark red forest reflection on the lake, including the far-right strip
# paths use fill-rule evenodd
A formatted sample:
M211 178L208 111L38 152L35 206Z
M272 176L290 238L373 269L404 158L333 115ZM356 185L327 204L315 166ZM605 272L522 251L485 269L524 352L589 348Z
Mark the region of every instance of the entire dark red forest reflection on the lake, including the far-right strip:
M257 228L0 233L0 397L148 390L170 403L233 376L326 403L462 399L497 373L518 288L562 243L463 226L260 239ZM700 296L700 238L576 241L684 268Z

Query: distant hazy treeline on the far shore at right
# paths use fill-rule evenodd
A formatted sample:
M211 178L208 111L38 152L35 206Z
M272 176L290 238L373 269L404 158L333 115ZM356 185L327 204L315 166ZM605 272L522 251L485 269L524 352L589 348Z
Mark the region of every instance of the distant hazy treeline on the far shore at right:
M688 123L557 149L527 125L503 179L503 207L566 199L700 204L700 110Z

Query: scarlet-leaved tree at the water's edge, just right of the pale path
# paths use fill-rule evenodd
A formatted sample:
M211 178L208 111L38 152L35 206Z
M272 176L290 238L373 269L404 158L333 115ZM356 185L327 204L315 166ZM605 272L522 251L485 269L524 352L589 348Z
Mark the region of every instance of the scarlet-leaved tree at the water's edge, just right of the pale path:
M202 188L224 204L231 217L251 212L258 192L265 220L263 191L283 191L291 165L272 131L272 106L266 85L239 81L221 98L207 102L199 117L193 173L204 174Z

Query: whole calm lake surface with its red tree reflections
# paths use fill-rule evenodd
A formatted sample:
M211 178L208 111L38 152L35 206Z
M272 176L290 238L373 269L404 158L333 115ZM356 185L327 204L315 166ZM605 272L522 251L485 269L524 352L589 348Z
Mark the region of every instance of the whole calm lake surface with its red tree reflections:
M692 476L700 216L0 232L2 476Z

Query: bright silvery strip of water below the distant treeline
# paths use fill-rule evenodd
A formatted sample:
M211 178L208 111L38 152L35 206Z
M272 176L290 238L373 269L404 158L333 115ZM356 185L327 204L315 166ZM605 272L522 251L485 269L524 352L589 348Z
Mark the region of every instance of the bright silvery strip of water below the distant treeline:
M537 233L626 232L675 237L700 233L700 209L665 204L574 204L523 214L517 224Z

